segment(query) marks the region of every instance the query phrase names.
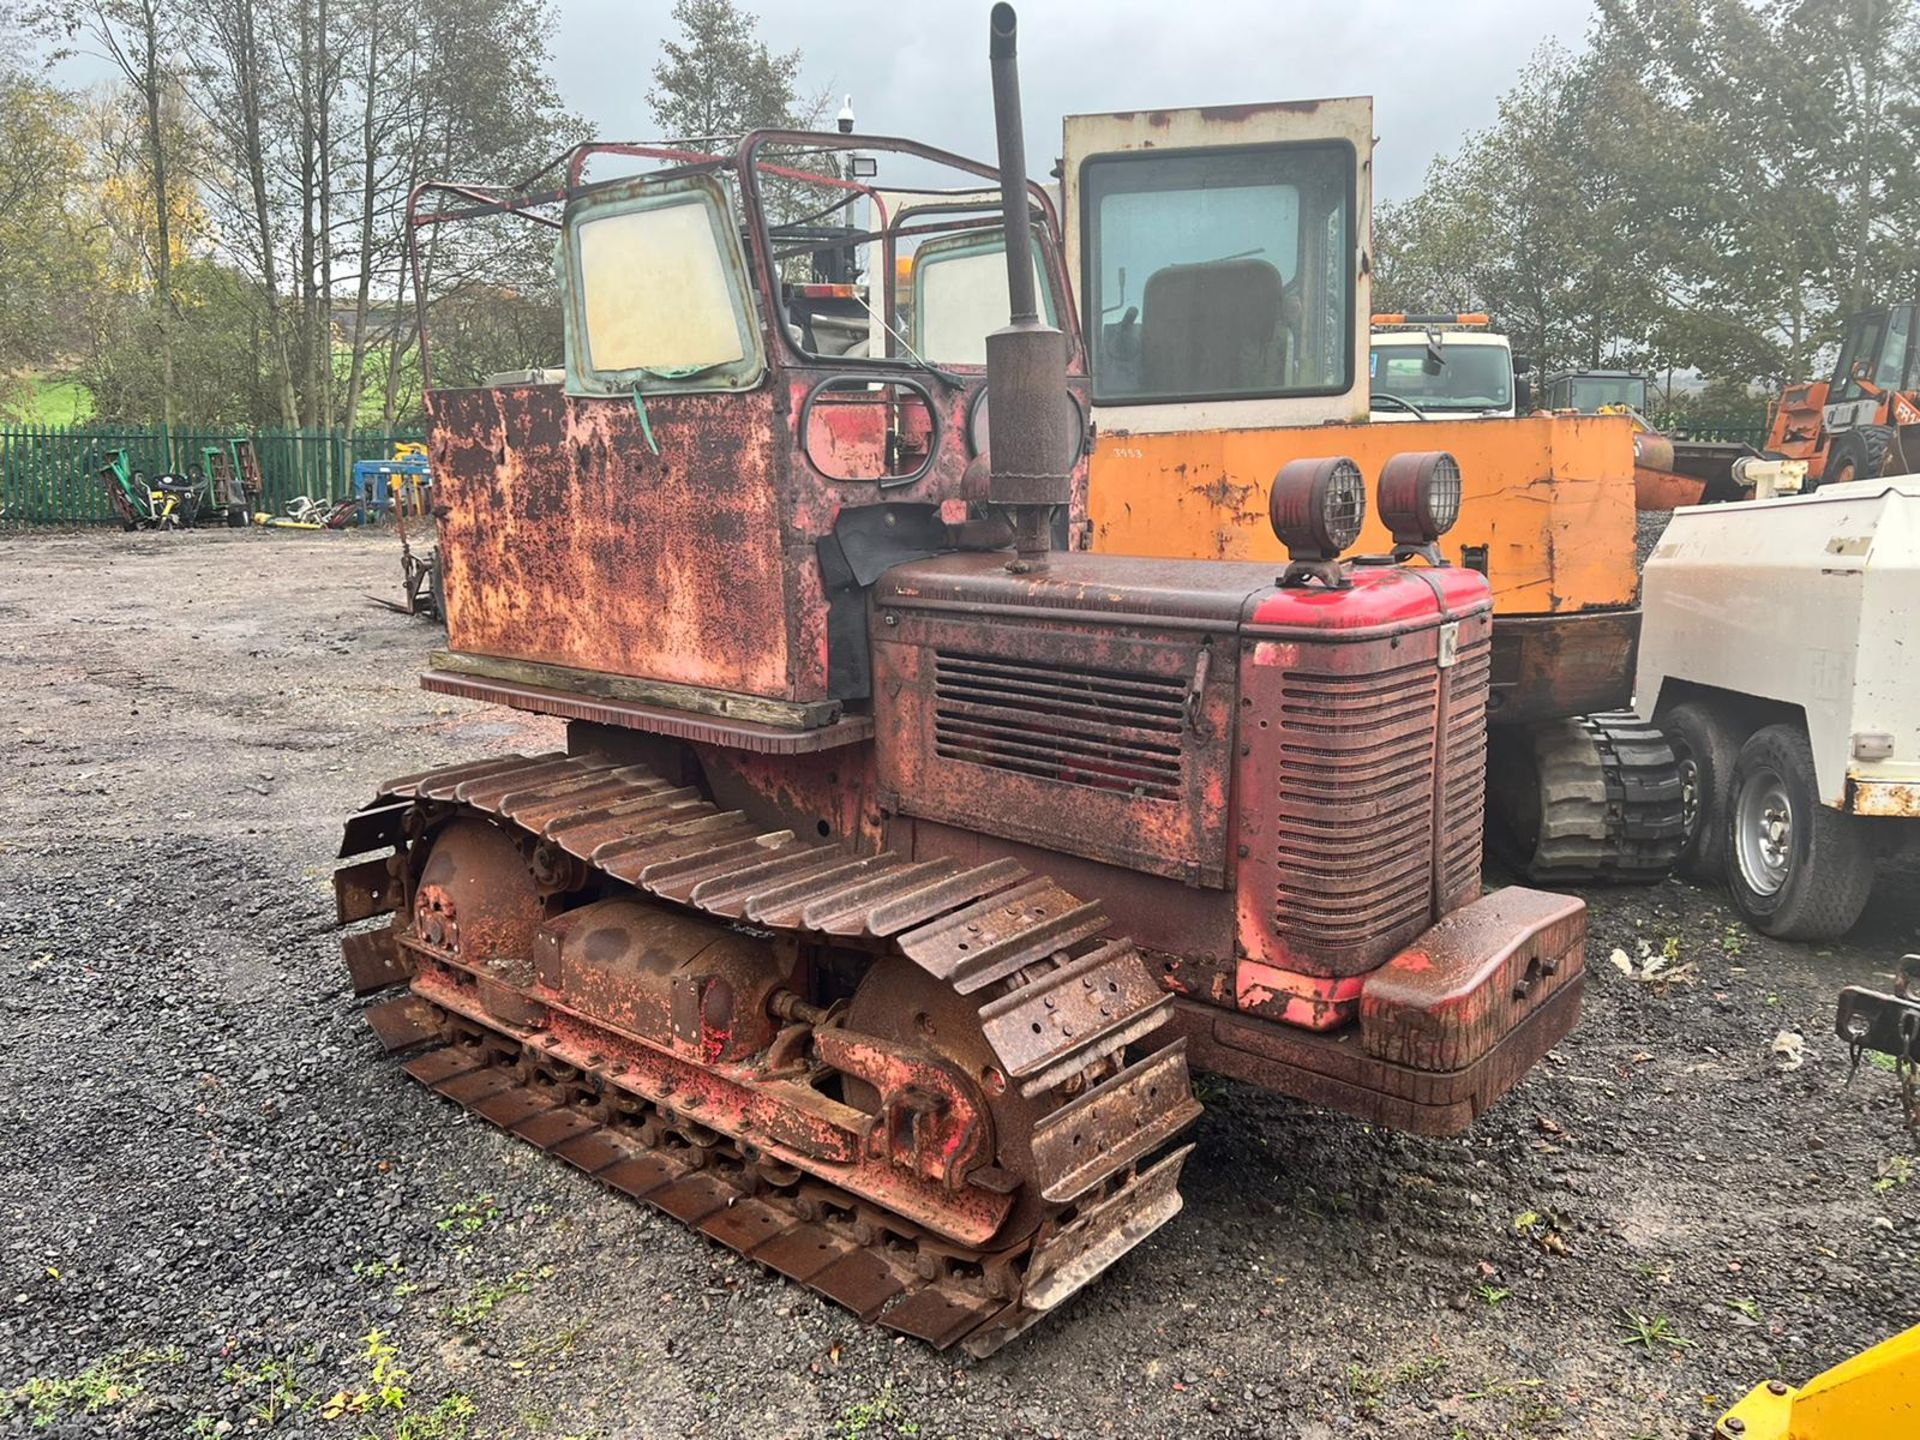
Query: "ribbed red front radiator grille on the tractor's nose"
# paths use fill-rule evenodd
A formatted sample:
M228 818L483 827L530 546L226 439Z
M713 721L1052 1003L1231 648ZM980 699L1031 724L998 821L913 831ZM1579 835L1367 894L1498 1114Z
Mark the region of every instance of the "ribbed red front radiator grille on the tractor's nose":
M1486 639L1461 645L1448 670L1423 657L1371 674L1286 676L1273 902L1283 939L1346 948L1425 925L1434 899L1434 804L1442 806L1442 893L1475 877L1488 651ZM1450 714L1436 753L1442 685Z

